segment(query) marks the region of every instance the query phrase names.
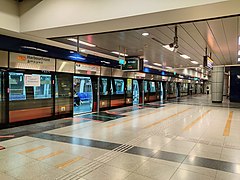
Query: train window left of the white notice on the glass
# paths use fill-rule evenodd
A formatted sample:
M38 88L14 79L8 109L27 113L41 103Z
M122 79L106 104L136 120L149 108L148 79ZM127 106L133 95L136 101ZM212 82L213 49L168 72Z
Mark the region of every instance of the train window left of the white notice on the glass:
M23 73L9 73L9 90L10 101L26 100Z

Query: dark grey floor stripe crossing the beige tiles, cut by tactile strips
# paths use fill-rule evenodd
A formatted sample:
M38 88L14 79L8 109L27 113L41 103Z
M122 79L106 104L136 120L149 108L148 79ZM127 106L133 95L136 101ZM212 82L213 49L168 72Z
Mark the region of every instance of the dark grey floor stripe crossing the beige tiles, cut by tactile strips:
M77 137L48 134L48 133L33 134L31 135L31 137L57 141L57 142L64 142L69 144L94 147L94 148L100 148L100 149L106 149L106 150L114 150L116 147L119 147L122 145L122 144L111 143L106 141L77 138ZM239 170L238 170L239 164L227 162L227 161L220 161L220 160L197 157L197 156L189 156L189 155L161 151L161 150L156 152L155 150L152 150L149 148L143 148L143 147L137 147L137 146L134 146L133 148L126 151L125 153L239 174Z

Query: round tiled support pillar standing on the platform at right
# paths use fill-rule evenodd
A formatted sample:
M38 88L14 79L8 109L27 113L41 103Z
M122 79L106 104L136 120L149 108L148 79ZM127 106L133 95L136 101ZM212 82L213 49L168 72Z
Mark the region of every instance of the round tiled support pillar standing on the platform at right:
M212 70L212 102L222 103L224 84L224 67L213 67Z

